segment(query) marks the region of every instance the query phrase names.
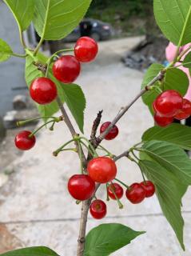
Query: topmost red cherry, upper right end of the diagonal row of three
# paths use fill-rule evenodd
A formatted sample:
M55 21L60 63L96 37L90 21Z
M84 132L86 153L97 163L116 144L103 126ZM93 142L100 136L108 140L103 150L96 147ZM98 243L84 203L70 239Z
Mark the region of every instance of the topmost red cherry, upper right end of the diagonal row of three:
M79 38L74 47L75 57L78 62L91 62L96 58L98 52L97 42L93 38Z

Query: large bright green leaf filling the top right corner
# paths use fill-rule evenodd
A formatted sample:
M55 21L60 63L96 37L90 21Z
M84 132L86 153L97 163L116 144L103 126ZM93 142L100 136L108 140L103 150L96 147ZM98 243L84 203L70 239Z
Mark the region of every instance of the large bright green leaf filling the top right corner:
M191 42L191 0L154 0L157 25L165 37L175 45Z

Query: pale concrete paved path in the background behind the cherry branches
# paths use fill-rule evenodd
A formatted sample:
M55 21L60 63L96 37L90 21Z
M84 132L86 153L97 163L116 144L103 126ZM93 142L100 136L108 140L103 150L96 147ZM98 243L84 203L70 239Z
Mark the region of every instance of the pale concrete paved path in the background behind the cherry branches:
M83 66L78 83L87 98L86 134L90 134L90 126L98 110L104 110L102 121L108 121L140 90L143 74L125 68L119 62L125 49L138 40L102 42L97 61ZM113 150L113 154L119 154L139 142L142 132L152 125L148 110L139 100L119 122L119 136L112 142L104 142L104 145ZM4 222L0 226L0 253L19 246L44 245L63 256L75 255L80 206L70 198L66 184L68 178L78 172L79 162L72 153L61 154L58 158L51 156L53 150L70 138L63 123L56 128L54 133L45 130L38 135L35 148L14 162L14 174L0 190L0 219ZM141 181L140 171L132 162L121 159L117 167L118 177L127 183ZM90 218L88 230L102 222L121 222L134 230L147 231L113 256L137 256L140 253L142 256L189 256L189 193L183 202L186 253L177 244L155 197L137 206L124 198L124 210L118 210L115 202L109 202L107 218L103 221ZM105 198L105 191L99 191L99 195Z

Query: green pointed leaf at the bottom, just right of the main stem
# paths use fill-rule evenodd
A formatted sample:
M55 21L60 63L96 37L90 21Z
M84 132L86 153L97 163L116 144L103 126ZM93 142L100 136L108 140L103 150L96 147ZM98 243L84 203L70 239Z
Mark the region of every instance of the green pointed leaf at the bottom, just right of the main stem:
M117 223L101 224L90 230L86 236L84 256L107 256L128 245L138 235L145 232L131 230Z

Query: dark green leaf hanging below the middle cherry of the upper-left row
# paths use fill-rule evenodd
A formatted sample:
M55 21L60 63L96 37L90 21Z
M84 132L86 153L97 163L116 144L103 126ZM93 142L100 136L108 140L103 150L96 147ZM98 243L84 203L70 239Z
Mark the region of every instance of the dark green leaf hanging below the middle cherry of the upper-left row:
M79 129L83 133L84 110L86 108L86 98L80 86L76 84L62 84L62 90L67 106L73 114Z

